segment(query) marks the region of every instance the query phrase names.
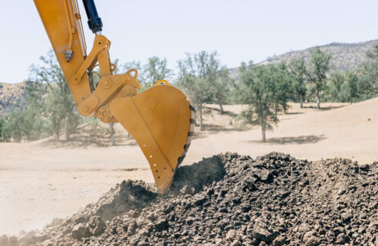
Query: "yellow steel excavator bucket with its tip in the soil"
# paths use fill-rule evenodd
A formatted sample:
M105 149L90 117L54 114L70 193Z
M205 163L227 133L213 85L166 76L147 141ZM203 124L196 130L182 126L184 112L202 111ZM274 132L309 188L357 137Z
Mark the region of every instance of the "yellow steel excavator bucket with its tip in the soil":
M195 112L186 95L175 87L158 85L132 97L114 99L110 112L146 156L158 193L166 193L194 131Z

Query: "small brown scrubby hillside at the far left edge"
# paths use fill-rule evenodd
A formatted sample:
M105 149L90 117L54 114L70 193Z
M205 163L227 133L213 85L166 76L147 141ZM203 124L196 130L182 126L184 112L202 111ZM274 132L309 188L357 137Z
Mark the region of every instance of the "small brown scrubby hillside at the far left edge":
M25 104L26 83L0 83L0 117Z

